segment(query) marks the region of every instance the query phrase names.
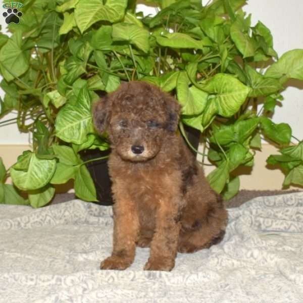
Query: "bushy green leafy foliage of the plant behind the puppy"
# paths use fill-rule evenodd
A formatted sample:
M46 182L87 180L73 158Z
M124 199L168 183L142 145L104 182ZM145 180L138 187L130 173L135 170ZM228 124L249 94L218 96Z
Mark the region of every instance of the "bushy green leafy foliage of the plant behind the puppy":
M283 83L303 80L303 50L278 58L270 30L260 21L251 25L244 0L148 3L161 7L156 16L143 16L136 1L127 0L24 2L21 22L9 25L12 36L0 35L6 92L0 117L18 111L16 123L33 133L33 150L9 169L15 186L4 183L0 163L0 203L46 205L54 184L69 179L78 197L95 201L84 165L95 160L83 154L97 150L103 160L110 144L93 128L91 104L130 80L176 96L180 131L185 138L184 126L201 133L203 162L207 156L217 166L208 180L225 198L238 192L235 169L254 164L261 136L281 147L268 163L285 170L284 185L303 185L302 142L290 145L289 125L270 118ZM266 70L257 69L262 65Z

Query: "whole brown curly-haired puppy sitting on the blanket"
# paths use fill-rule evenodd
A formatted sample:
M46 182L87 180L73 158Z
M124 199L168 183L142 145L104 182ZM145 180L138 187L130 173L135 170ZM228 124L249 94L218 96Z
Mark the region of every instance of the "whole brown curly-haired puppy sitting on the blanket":
M227 213L177 134L180 106L143 81L124 83L93 107L95 128L112 143L114 248L101 269L123 270L136 245L150 246L145 270L171 270L177 251L218 243Z

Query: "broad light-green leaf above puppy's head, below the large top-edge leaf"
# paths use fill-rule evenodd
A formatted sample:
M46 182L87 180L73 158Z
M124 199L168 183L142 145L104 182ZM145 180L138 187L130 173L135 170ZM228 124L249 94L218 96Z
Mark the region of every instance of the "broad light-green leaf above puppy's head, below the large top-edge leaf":
M117 23L113 25L114 41L128 41L144 53L149 50L149 32L135 24Z

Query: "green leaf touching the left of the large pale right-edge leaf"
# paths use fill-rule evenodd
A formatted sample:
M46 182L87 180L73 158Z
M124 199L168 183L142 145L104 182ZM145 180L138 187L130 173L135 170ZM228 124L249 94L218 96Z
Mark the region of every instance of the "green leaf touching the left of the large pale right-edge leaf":
M249 65L245 66L245 71L249 86L252 88L249 92L250 97L268 95L283 88L277 79L266 78Z

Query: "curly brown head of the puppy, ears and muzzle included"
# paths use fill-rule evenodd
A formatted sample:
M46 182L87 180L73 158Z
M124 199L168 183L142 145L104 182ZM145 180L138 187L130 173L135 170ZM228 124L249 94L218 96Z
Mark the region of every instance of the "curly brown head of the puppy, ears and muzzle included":
M93 122L100 134L108 132L122 159L146 161L176 132L179 111L176 100L156 86L131 81L94 105Z

